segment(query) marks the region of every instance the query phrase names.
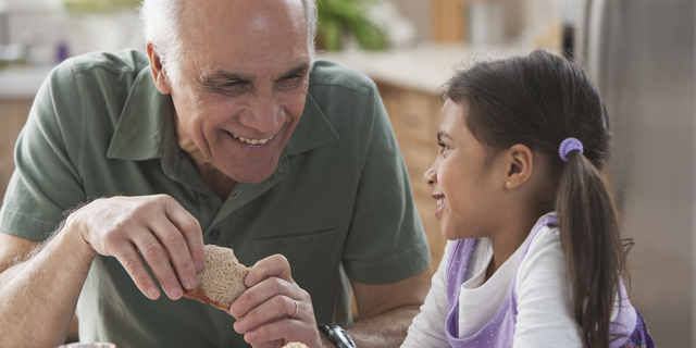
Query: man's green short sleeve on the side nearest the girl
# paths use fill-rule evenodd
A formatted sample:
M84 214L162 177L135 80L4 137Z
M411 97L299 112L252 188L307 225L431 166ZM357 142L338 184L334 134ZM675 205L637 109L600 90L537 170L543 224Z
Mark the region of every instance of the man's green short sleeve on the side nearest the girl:
M403 158L374 84L363 115L356 142L362 165L343 263L352 281L382 284L418 274L431 256Z

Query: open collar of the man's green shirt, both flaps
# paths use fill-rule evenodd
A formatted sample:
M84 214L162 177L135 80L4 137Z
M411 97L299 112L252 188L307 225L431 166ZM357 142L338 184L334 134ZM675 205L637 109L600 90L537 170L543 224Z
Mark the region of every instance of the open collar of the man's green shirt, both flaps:
M137 75L116 124L107 157L133 161L150 160L179 152L172 122L172 98L152 82L149 65ZM285 146L283 156L294 156L339 139L338 134L311 95L302 117ZM175 156L176 157L176 156Z

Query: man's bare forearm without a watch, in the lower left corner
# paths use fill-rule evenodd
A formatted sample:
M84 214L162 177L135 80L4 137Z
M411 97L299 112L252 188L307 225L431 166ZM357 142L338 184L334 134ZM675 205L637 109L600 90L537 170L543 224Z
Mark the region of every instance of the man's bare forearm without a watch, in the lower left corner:
M64 232L0 274L0 347L65 340L94 254Z

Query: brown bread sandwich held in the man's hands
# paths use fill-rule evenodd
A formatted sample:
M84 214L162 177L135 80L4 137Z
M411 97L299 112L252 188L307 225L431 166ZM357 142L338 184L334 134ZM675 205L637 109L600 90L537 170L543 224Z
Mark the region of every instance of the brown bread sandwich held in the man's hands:
M239 263L229 248L206 246L203 269L198 272L198 285L192 290L184 289L184 297L228 311L247 289L244 279L249 269Z

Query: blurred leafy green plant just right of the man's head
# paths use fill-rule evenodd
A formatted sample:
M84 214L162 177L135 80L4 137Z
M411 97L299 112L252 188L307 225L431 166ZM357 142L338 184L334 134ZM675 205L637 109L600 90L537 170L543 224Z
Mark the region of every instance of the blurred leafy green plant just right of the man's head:
M316 0L320 48L327 51L340 49L340 37L344 33L355 37L358 45L364 49L386 48L384 32L366 17L371 2L361 0Z

